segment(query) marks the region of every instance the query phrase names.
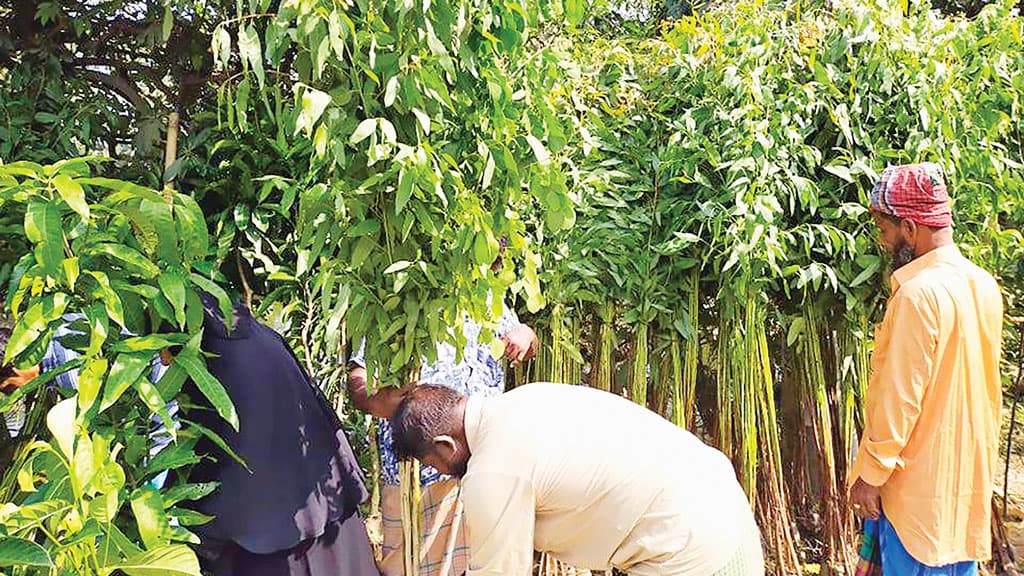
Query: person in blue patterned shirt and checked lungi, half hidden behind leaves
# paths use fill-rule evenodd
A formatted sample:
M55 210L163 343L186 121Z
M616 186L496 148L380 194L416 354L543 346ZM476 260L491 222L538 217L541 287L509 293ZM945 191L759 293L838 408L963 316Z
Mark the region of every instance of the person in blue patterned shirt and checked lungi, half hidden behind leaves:
M534 357L537 334L519 322L515 312L503 303L496 337L505 342L505 359L518 365ZM505 389L505 369L492 356L490 342L480 341L480 325L467 320L463 326L466 345L463 360L457 362L457 349L452 344L437 344L437 360L423 363L420 379L402 387L384 387L367 393L365 342L349 359L348 393L352 404L378 418L378 444L381 455L381 512L383 549L381 574L401 576L404 573L403 539L398 487L398 458L395 455L391 425L388 421L398 408L406 393L417 384L437 384L454 388L468 397L494 397ZM436 469L423 466L420 474L422 490L422 543L420 576L462 574L468 567L465 525L461 522L462 505L459 482ZM454 534L453 534L454 532ZM447 574L441 574L447 567Z

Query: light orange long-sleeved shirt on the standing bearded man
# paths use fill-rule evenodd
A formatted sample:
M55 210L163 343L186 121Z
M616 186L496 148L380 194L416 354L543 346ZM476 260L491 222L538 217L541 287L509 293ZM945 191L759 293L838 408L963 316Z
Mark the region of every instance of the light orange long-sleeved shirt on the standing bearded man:
M850 480L882 487L886 518L918 562L987 560L1002 392L999 287L954 246L897 270L892 286Z

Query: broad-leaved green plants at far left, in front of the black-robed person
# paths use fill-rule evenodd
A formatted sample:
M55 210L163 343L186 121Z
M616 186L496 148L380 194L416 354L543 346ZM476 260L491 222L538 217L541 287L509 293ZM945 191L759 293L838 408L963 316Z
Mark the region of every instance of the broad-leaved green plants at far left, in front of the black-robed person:
M187 421L178 429L167 411L186 376L239 425L199 349L199 290L218 296L228 318L230 302L208 277L211 244L196 202L93 177L97 161L0 165L0 208L25 214L31 246L7 293L15 324L3 360L38 364L61 326L74 333L60 343L81 355L0 406L39 401L57 373L78 370L78 390L63 390L70 397L46 416L49 440L29 437L19 449L18 490L0 508L0 562L83 575L198 575L183 545L198 538L169 519L182 513L172 506L201 493L179 484L165 498L148 483L198 461L205 430ZM177 361L152 382L155 356L171 346L181 346ZM147 430L157 420L174 443L151 459Z

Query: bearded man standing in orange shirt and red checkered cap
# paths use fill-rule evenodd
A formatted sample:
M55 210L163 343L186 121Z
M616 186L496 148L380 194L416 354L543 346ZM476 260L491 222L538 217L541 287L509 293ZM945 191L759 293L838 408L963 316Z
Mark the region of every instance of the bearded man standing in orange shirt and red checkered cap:
M850 503L887 576L977 574L991 556L1002 298L953 243L937 165L886 169L870 208L894 270Z

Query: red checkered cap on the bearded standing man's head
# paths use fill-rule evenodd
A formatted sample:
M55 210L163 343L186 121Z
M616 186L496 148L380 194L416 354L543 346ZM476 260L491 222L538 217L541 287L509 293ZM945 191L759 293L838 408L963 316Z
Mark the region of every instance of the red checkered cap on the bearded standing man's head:
M932 162L886 168L871 191L871 210L932 228L953 223L946 178Z

